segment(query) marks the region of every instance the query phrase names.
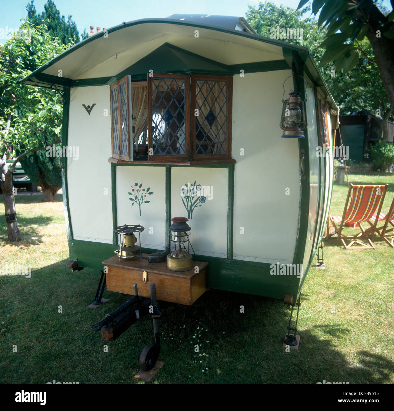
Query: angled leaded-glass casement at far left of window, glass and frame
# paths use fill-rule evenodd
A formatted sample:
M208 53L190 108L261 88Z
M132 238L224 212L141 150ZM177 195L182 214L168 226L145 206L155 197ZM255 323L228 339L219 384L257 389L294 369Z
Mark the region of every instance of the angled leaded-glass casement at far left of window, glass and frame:
M112 84L110 92L112 158L133 161L131 76Z

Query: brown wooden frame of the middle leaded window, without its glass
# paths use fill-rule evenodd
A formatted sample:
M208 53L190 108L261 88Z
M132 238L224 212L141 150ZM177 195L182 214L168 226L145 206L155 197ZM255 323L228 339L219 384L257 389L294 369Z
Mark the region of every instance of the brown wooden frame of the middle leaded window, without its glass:
M185 81L185 142L186 154L183 155L150 155L153 152L152 146L152 83L153 79L182 79ZM148 161L171 162L188 161L191 159L190 150L190 76L187 74L154 74L152 77L147 74L148 88Z

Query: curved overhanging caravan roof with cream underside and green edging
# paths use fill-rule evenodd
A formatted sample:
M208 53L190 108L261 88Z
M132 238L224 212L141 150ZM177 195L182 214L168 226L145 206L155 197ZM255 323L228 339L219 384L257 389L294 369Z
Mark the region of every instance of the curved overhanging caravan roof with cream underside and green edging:
M186 68L193 65L190 61L185 62L188 60L185 55L189 55L189 60L202 58L212 66L211 72L226 75L239 74L240 69L245 73L290 69L296 55L304 62L305 74L315 86L325 89L327 99L337 108L307 48L261 37L240 27L237 29L237 24L244 20L240 18L210 16L209 20L206 16L202 22L196 23L195 15L170 17L124 22L107 32L98 32L59 54L20 82L43 87L56 85L58 88L109 84L133 65L137 69L136 63L163 45L167 45ZM227 23L227 27L208 24L207 21L220 23L214 17L224 18L222 21ZM190 21L192 19L194 21ZM228 28L233 23L235 28Z

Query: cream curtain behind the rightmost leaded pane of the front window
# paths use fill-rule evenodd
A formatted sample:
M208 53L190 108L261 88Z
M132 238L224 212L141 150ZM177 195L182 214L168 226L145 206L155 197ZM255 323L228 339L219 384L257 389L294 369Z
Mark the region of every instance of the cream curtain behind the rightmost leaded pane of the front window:
M205 133L220 142L226 139L226 87L221 90L223 85L221 81L196 81L196 109L200 111L196 118ZM210 110L216 118L212 126L205 120ZM214 152L220 152L218 143L214 144Z

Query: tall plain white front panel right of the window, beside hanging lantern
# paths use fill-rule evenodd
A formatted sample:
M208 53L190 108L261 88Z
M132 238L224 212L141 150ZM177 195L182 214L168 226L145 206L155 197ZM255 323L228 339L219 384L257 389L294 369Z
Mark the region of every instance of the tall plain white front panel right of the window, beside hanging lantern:
M298 139L281 138L279 127L288 76L288 70L234 76L234 259L293 261L300 201ZM288 79L286 93L290 87Z

